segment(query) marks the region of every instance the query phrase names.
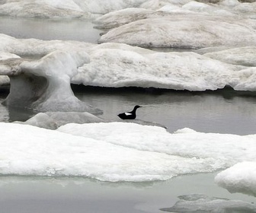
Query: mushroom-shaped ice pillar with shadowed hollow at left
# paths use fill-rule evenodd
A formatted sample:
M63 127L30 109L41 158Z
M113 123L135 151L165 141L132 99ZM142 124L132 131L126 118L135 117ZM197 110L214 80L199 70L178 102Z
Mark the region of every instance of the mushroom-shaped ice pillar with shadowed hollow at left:
M100 113L78 100L70 87L77 67L88 62L86 52L56 51L42 59L7 59L0 73L11 78L5 105L38 111L90 111Z

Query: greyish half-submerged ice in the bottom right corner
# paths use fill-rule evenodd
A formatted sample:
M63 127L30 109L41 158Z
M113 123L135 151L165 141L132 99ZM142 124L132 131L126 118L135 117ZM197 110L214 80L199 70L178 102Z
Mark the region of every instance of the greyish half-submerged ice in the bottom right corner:
M179 196L180 201L176 202L171 208L162 208L162 211L169 212L212 212L212 213L229 213L243 212L254 213L256 205L239 200L220 199L208 197L205 195L186 195Z

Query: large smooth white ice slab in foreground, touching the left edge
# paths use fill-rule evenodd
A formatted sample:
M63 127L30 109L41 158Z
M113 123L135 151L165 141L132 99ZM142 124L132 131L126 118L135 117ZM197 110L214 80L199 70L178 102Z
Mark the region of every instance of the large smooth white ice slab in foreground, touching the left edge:
M187 161L34 126L0 123L0 129L0 175L168 180L177 174L178 164Z

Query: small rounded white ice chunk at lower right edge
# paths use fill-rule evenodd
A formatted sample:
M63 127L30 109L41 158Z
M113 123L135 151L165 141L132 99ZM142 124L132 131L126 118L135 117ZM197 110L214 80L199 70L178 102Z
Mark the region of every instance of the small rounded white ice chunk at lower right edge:
M219 173L215 181L229 192L241 192L256 197L256 162L235 164Z

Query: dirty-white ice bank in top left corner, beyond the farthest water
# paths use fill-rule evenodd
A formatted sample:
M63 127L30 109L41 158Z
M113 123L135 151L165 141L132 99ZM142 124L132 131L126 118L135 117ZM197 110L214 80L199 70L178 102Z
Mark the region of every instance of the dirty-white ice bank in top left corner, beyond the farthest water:
M0 5L0 14L15 17L82 17L88 13L106 14L123 8L139 7L147 0L7 0ZM157 1L154 1L157 2Z

